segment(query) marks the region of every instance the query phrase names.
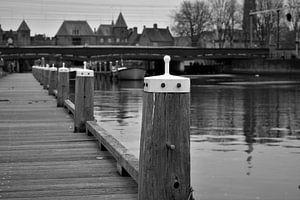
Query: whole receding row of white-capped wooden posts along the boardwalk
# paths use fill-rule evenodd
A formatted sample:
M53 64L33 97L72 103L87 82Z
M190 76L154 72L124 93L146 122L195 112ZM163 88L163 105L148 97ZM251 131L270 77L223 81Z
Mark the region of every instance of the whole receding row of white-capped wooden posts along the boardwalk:
M193 199L190 186L190 80L169 74L170 57L165 56L165 74L144 79L143 117L139 159L139 200ZM57 106L69 96L69 73L64 67L34 66L34 77L57 89ZM76 70L75 131L84 132L93 120L94 73Z

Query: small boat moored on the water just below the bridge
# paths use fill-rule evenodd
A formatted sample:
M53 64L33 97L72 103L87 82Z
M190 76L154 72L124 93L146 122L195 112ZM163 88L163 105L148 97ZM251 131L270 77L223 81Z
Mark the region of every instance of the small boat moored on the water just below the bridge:
M141 80L146 74L145 69L127 67L120 67L117 70L112 70L112 72L120 80Z

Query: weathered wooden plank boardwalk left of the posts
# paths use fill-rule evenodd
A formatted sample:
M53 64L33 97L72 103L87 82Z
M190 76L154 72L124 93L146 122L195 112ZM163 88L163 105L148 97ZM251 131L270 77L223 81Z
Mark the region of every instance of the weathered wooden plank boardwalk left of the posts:
M137 199L137 185L31 74L0 79L0 199Z

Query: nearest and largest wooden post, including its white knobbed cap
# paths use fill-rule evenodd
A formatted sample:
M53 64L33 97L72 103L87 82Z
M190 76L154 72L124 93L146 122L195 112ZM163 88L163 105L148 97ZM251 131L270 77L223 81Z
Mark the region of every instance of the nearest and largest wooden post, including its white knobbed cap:
M144 79L139 200L187 200L190 187L190 80L169 74Z

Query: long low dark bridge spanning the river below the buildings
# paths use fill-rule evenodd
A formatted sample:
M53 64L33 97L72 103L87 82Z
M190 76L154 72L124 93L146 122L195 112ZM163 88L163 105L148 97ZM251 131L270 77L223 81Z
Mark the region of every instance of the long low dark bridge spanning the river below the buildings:
M24 46L0 47L0 58L38 59L41 57L64 60L160 60L170 55L174 61L193 59L252 59L266 58L268 48L198 48L149 46Z

